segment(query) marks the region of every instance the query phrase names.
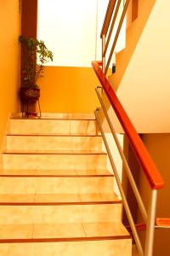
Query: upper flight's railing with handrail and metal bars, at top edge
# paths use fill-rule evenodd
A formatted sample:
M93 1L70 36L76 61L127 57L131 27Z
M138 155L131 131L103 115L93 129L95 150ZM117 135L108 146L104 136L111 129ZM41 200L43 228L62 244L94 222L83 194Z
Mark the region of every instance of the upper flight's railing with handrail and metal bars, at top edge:
M130 2L130 0L126 0L125 3L123 0L110 0L109 1L108 8L107 8L106 14L105 14L104 24L103 24L103 27L102 27L102 30L100 33L100 38L102 39L102 70L105 74L107 73L108 68L110 67L111 57L116 48L117 39L119 38L119 34L122 29L122 23L125 18L125 15L127 13L127 7L128 7L129 2ZM111 47L111 53L109 55L108 61L106 61L105 55L106 55L108 46L111 41L111 34L113 32L113 28L116 25L116 18L117 18L119 9L121 7L121 3L123 3L123 5L124 5L123 10L122 10L121 19L119 20L119 24L116 29L116 35L115 35L115 38L114 38L114 41L113 41L113 44Z

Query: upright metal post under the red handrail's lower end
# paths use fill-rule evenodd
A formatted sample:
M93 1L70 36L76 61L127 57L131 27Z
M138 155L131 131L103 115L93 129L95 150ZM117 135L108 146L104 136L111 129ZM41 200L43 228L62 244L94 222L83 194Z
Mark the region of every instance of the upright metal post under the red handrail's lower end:
M151 190L150 207L148 212L148 224L146 229L146 240L144 247L144 256L153 255L154 247L154 233L156 224L156 203L157 203L157 190Z

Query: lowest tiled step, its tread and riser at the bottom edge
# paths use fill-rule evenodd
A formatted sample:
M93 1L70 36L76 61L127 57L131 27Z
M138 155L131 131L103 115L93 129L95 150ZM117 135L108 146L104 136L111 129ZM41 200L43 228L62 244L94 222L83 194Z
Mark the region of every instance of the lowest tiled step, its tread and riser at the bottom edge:
M0 225L2 256L131 256L121 223Z

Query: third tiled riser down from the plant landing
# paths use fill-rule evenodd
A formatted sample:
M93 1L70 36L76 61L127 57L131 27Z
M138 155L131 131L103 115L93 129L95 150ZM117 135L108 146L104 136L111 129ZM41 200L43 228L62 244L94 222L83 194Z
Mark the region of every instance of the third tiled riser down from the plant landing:
M3 169L104 170L105 154L3 154Z

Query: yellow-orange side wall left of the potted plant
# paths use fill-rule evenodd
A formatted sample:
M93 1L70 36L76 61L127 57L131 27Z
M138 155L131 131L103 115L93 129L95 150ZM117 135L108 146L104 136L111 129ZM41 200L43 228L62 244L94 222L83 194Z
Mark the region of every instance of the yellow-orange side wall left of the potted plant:
M1 1L0 7L0 143L8 114L18 110L20 10L19 0Z

